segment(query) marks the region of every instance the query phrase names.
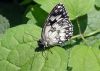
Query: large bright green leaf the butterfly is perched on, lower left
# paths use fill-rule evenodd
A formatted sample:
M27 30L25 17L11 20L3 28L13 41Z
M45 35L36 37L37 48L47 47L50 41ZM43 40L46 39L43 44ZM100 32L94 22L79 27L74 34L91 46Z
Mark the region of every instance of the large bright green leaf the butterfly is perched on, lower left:
M66 71L68 56L63 48L36 50L40 30L33 24L7 30L0 39L0 71Z

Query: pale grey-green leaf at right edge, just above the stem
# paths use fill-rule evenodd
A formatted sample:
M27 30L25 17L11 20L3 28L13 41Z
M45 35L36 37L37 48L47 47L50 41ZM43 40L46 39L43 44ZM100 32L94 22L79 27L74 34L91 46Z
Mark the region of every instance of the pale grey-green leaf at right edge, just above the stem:
M100 32L100 11L95 8L88 14L88 22L85 34L93 33L95 31Z

